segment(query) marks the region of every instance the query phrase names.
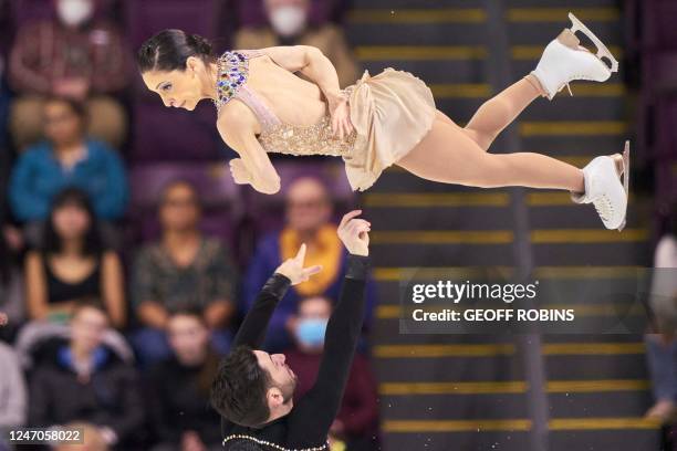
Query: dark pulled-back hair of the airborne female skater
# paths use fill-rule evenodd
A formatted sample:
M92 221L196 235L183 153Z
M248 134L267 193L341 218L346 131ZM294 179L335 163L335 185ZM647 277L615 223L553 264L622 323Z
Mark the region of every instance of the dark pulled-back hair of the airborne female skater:
M148 71L184 71L189 56L208 62L213 60L211 43L199 34L183 30L163 30L144 42L136 54L142 73Z

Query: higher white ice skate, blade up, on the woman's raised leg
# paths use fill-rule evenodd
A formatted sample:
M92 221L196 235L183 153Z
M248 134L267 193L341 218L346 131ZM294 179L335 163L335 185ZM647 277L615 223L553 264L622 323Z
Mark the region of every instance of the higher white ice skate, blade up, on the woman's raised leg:
M572 22L571 29L564 29L556 39L548 44L537 69L531 72L539 78L551 101L564 85L571 94L569 83L574 80L605 82L612 72L618 71L618 62L606 45L571 12L569 19ZM590 38L597 48L596 54L580 45L581 41L576 38L576 31ZM602 60L603 57L608 59L611 67Z

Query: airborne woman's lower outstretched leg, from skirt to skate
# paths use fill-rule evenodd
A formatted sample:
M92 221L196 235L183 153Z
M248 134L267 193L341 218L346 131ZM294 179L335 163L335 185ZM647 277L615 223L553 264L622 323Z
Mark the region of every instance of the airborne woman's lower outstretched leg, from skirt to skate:
M534 153L489 154L464 128L439 115L433 129L397 165L445 183L585 190L583 171L575 166Z

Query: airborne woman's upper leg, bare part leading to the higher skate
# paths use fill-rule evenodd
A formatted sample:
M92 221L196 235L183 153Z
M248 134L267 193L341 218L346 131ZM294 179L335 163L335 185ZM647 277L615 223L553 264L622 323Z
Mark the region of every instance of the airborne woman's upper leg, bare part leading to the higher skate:
M485 102L464 130L487 150L498 134L542 94L538 78L531 74L527 75Z

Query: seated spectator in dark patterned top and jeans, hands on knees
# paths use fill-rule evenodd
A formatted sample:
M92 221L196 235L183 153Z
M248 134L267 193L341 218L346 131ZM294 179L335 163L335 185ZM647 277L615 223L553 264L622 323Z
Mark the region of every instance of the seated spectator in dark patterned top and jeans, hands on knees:
M145 245L134 263L132 302L143 328L134 345L143 363L169 357L166 328L173 312L201 312L212 345L222 354L230 347L237 274L228 250L204 237L199 196L187 181L174 181L159 202L162 238Z

